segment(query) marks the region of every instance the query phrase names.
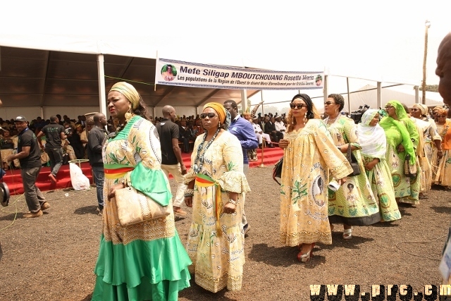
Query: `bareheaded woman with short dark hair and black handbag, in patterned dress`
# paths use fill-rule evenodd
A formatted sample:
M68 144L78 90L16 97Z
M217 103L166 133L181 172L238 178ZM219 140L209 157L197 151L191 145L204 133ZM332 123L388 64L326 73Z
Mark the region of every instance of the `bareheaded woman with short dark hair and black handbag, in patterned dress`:
M352 152L359 166L359 174L350 176L349 182L354 189L345 190L340 187L337 191L329 190L329 220L330 223L342 223L342 238L352 238L352 226L368 226L381 221L379 207L371 190L359 149L357 125L351 118L340 112L345 106L345 99L340 94L330 94L324 104L327 118L324 120L335 146L340 152ZM352 200L352 201L351 201Z

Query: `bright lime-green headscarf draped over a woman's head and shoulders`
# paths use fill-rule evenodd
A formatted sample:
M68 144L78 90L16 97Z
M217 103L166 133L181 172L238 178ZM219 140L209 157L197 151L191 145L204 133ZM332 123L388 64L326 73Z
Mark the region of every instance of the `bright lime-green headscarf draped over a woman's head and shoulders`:
M390 145L397 146L397 142L395 142L395 137L397 137L395 131L401 133L402 135L402 146L406 154L410 155L410 164L415 164L416 161L416 153L414 149L414 144L412 143L412 139L418 144L419 142L419 134L416 130L416 126L412 120L410 120L409 116L407 116L406 110L404 110L404 106L397 100L390 100L387 104L395 107L396 116L399 120L395 120L390 116L386 116L381 120L381 127L385 130L385 135L387 137L387 142ZM398 142L399 143L399 142Z

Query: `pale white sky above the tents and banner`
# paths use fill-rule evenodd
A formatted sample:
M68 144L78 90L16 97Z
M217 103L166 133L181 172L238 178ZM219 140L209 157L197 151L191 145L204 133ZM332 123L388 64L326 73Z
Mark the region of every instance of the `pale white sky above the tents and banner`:
M43 0L7 1L1 11L0 44L1 33L66 35L130 47L152 42L159 57L168 59L272 70L325 70L330 75L417 85L423 76L425 21L431 22L428 85L438 84L437 49L451 31L451 1L443 0ZM350 89L366 83L351 79ZM331 76L328 87L330 93L346 92L346 79ZM286 101L293 93L266 91L264 99ZM322 91L307 94L316 96ZM252 104L260 99L256 95Z

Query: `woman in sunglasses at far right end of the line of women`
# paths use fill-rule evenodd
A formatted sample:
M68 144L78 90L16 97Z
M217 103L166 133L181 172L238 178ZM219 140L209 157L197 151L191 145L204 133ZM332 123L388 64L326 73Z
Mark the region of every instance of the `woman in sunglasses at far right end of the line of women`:
M451 188L451 119L446 118L447 109L437 110L437 132L442 138L441 149L434 149L432 162L438 162L434 184ZM440 160L440 161L439 161Z

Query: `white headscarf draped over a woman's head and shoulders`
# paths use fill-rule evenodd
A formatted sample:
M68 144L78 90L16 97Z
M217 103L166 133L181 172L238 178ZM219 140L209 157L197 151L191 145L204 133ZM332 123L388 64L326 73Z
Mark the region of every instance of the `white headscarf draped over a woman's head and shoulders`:
M362 122L357 125L357 133L359 135L360 152L365 156L371 158L383 159L387 151L387 138L385 131L378 123L376 126L371 126L369 123L376 116L378 110L366 110L362 116Z

